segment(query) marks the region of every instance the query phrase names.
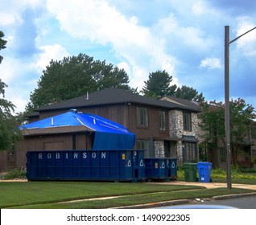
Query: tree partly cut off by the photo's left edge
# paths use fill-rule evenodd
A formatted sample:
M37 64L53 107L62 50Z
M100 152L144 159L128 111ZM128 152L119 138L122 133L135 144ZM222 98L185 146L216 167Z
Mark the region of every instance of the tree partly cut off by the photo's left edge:
M6 40L3 40L4 34L0 31L0 50L6 48ZM0 63L2 62L0 55ZM0 79L0 150L9 150L12 145L22 138L17 121L12 115L14 113L14 104L5 99L5 88L7 85ZM2 97L1 97L2 96Z

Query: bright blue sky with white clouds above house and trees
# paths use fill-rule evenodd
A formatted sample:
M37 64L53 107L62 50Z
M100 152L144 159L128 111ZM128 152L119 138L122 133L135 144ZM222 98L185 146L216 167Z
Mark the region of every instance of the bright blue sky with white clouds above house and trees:
M23 111L51 59L85 53L125 68L140 90L150 72L224 100L224 36L256 27L255 0L0 0L6 99ZM74 75L75 76L75 75ZM230 97L256 107L256 30L230 44Z

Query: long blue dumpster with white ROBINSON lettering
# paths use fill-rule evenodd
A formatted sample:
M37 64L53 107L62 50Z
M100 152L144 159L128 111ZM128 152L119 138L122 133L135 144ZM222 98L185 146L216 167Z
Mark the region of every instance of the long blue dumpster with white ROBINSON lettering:
M28 180L133 181L145 179L142 150L27 152Z

